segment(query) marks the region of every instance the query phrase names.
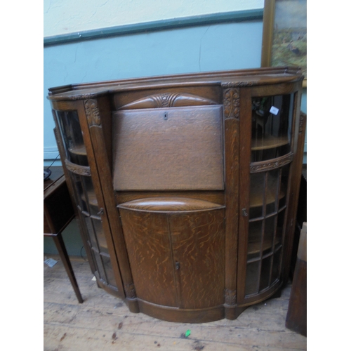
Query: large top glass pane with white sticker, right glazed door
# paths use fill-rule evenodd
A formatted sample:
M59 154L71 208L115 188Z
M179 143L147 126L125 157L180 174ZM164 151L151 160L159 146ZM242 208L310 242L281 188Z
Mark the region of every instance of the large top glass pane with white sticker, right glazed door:
M293 94L252 99L251 161L264 161L291 151Z

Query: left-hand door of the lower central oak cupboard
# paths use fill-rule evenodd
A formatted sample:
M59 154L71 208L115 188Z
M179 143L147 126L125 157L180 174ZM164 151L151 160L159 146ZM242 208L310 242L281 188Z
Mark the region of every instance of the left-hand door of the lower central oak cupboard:
M157 305L178 307L166 214L119 211L136 296Z

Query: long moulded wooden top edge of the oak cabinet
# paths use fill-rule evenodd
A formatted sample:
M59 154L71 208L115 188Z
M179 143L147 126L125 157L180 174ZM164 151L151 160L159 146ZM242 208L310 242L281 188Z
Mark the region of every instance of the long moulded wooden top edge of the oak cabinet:
M95 98L98 95L105 95L107 93L117 93L119 91L176 86L221 85L224 88L230 88L289 83L302 81L303 75L300 72L299 67L266 67L69 84L67 86L49 88L48 99L80 100Z

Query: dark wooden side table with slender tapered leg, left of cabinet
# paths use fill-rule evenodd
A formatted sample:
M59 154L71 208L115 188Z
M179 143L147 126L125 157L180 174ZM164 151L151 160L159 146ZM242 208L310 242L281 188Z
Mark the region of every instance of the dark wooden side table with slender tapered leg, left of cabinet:
M62 239L62 231L74 218L74 209L62 167L51 167L50 169L52 172L50 178L44 180L44 237L53 238L74 293L76 293L79 303L83 303L65 243Z

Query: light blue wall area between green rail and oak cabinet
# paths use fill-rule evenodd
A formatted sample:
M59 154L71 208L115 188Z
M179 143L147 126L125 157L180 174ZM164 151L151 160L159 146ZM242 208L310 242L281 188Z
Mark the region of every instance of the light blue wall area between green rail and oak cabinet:
M44 160L58 154L53 117L46 99L48 88L109 79L260 67L262 30L262 20L256 20L44 47Z

